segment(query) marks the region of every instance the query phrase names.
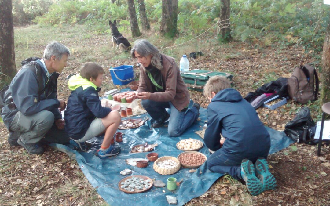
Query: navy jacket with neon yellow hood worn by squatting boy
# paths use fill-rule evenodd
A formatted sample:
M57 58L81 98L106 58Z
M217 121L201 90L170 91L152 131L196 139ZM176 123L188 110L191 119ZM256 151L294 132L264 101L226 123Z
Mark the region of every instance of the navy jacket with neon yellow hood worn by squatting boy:
M69 79L69 88L73 90L64 111L65 130L72 139L81 139L95 118L104 118L110 112L102 107L98 92L101 88L79 74Z

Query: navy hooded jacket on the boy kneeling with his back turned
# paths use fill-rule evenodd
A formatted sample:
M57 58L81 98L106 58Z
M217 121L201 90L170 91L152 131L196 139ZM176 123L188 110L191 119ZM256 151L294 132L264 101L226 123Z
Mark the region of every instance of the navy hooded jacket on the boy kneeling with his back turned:
M208 106L205 145L213 151L220 148L220 133L226 138L227 154L254 157L270 149L270 135L257 112L241 94L232 88L219 91Z

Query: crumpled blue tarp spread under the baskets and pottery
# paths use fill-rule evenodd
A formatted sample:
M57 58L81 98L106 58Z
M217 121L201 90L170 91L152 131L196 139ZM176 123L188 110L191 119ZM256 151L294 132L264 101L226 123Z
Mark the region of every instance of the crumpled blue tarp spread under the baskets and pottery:
M206 163L197 169L195 172L189 172L189 168L181 168L178 172L172 175L160 175L153 170L153 162L149 162L148 167L138 168L126 164L128 158L146 158L148 153L129 153L130 148L134 145L148 142L149 144L157 143L153 152L158 153L159 157L173 156L178 157L182 152L177 149L178 141L186 138L203 139L195 133L202 130L206 121L207 111L200 108L200 121L196 121L186 132L180 137L170 137L167 133L167 126L153 129L150 127L150 119L143 126L137 129L120 130L123 132L123 141L118 144L121 147L121 152L116 157L100 159L95 155L96 149L88 152L78 152L66 145L51 144L53 148L67 153L71 158L75 158L82 172L96 188L97 192L110 205L168 205L166 195L175 196L178 200L178 205L183 205L194 197L204 194L212 186L212 184L223 174L213 173L206 168ZM144 118L147 114L140 117ZM150 116L149 116L150 118ZM288 147L294 141L285 136L284 132L279 132L266 127L271 135L271 153L275 153ZM102 137L96 137L91 140L95 148L100 147ZM199 152L204 153L207 157L210 156L208 149L203 146ZM176 191L169 191L164 188L152 187L149 191L137 194L127 194L118 189L118 182L124 178L119 172L129 168L133 170L132 175L145 175L151 179L162 180L167 182L167 178L175 177L177 181L181 181L181 185Z

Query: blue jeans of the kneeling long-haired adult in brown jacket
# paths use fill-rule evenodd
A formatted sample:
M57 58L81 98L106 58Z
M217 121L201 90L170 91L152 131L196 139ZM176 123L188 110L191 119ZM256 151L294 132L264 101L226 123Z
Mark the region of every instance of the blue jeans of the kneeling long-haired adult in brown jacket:
M192 123L194 123L199 111L196 107L191 107L186 111L180 112L171 102L155 102L151 100L142 100L141 104L147 110L153 120L166 117L166 108L171 109L170 121L168 123L168 134L170 136L180 136Z

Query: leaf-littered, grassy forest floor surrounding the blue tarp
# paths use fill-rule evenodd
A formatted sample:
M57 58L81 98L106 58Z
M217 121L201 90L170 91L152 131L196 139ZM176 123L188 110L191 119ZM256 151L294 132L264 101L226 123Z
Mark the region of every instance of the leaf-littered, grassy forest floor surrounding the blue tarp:
M71 52L69 65L59 76L58 98L67 100L70 91L66 76L78 73L84 62L96 62L105 69L111 66L136 65L129 54L112 49L111 35L95 34L84 26L15 28L16 67L30 56L42 56L51 40L61 41ZM154 34L145 34L156 46L173 45ZM234 75L235 88L244 97L262 84L278 77L289 77L299 64L317 63L313 50L305 52L299 46L262 45L231 42L219 44L205 36L173 50L162 50L180 61L182 54L202 51L205 55L190 59L190 69L228 72ZM315 65L318 66L318 65ZM137 71L137 68L135 68ZM109 73L105 74L103 92L116 88ZM191 98L202 107L208 101L199 92L190 91ZM275 109L259 108L261 121L275 130L284 130L303 106L288 101ZM318 102L308 105L314 120L320 118ZM90 185L77 162L50 147L42 155L29 155L23 148L11 147L8 131L0 123L0 205L107 205ZM278 188L250 196L241 182L226 175L200 197L186 205L330 205L330 148L322 147L316 156L316 146L293 144L269 156L270 170Z

